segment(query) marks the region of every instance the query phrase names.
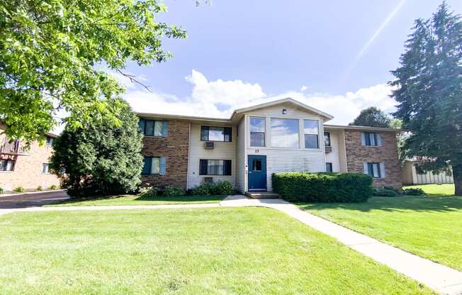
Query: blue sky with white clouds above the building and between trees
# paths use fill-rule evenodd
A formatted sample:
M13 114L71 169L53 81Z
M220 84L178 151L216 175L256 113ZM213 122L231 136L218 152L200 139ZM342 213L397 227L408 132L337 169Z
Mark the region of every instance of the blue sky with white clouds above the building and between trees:
M448 0L462 13L462 1ZM135 111L227 117L237 107L291 96L347 124L361 108L393 111L391 69L416 18L441 1L165 1L160 21L186 40L152 67L129 65L153 93L127 86Z

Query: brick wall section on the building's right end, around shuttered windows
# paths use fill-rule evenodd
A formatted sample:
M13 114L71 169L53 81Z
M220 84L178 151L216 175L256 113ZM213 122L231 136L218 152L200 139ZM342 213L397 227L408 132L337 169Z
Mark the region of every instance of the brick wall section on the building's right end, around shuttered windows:
M345 149L349 172L363 172L364 162L384 162L385 178L374 179L374 187L402 187L402 172L398 160L398 145L394 132L381 132L382 146L371 147L361 145L361 132L345 130Z

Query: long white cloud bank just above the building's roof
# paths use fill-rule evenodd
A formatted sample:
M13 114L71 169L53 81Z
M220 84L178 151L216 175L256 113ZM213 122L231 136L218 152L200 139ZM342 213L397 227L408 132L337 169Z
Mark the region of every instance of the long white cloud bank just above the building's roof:
M383 111L391 112L395 110L396 104L389 96L391 88L387 84L361 88L341 95L286 91L269 96L259 84L241 80L209 81L204 74L194 69L186 77L186 81L193 85L191 95L186 97L150 93L137 87L127 89L124 98L137 112L229 118L236 108L291 97L331 114L334 119L329 123L333 124L347 124L353 121L362 109L369 106L377 106Z

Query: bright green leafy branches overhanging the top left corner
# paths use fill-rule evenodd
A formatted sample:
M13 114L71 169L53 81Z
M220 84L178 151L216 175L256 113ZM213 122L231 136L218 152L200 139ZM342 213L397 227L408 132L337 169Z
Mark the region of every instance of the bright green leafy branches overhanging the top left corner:
M123 69L163 62L164 38L186 38L156 21L157 0L7 0L0 3L0 120L10 138L35 140L69 112L71 128L117 123L123 88L95 65ZM111 101L111 102L110 102Z

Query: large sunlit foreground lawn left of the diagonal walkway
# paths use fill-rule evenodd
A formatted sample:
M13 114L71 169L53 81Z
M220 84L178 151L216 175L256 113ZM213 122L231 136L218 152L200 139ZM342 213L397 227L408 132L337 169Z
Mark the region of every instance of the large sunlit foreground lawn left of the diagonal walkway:
M432 294L269 208L0 216L0 294Z

